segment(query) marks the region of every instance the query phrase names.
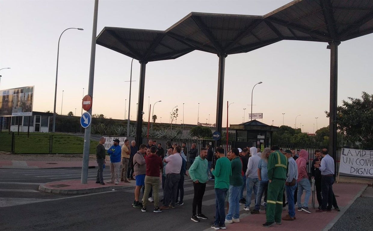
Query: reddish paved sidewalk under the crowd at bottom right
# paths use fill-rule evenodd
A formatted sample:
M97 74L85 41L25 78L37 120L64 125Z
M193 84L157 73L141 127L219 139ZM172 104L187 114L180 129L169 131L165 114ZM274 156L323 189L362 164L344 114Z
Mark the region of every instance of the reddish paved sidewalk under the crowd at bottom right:
M343 215L343 213L350 207L350 205L363 193L367 188L366 184L347 184L339 183L333 184L333 191L336 195L337 203L341 212L333 210L328 213L316 213L315 209L309 206L312 214L306 212L298 212L297 206L295 207L295 216L297 219L295 221L282 221L282 225L274 225L270 228L265 228L262 226L266 222L266 214L264 211L260 211L260 214L250 214L250 212L245 212L245 214L240 216L239 223L226 224L227 230L276 230L276 231L288 231L288 230L307 230L307 231L321 231L329 230L332 228L333 224ZM304 193L303 197L304 198ZM299 201L299 199L298 199ZM310 202L311 205L311 197ZM318 205L316 201L316 206ZM317 209L317 207L316 207ZM282 216L287 214L287 210L283 210ZM242 218L243 217L243 218ZM213 229L207 229L213 230Z

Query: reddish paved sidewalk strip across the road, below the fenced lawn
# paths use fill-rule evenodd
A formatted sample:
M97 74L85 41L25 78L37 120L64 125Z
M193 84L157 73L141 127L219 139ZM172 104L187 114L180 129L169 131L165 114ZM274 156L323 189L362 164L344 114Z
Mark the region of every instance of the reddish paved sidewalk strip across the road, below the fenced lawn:
M89 167L97 166L95 160L90 160ZM82 161L21 161L0 160L0 168L81 168Z

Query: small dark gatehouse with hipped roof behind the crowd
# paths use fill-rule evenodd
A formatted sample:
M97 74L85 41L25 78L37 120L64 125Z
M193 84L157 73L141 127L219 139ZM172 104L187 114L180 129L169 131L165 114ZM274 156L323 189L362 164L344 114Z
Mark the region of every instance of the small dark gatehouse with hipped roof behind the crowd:
M236 131L235 147L270 147L272 134L279 127L263 124L256 119L243 124L233 124L229 127Z

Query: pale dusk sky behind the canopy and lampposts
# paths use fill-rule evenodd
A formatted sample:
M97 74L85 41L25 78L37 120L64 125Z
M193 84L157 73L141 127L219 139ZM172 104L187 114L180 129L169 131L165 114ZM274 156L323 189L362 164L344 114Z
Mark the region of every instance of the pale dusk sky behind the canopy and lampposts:
M264 15L289 1L106 1L98 6L97 34L104 26L165 30L190 12ZM81 99L87 94L90 67L94 1L0 0L0 89L34 85L34 111L53 111L57 43L60 41L57 113L72 111L80 116ZM373 35L339 45L338 103L347 97L372 94ZM248 121L251 90L253 113L263 113L263 122L297 127L313 133L329 124L330 50L326 43L280 41L226 57L223 127L226 102L229 124ZM93 114L123 119L128 113L131 58L97 45ZM140 63L132 70L132 119L136 118ZM146 66L144 118L148 101L154 104L157 122L169 122L169 113L178 106L177 123L215 123L218 57L193 51L175 60L150 62ZM62 103L62 91L63 104ZM125 103L126 102L126 103ZM126 108L125 108L126 104ZM244 110L246 108L246 110ZM151 112L150 112L151 113ZM285 113L284 117L282 113ZM145 120L145 119L144 119ZM147 120L147 119L146 119ZM261 121L261 120L260 120ZM300 124L301 123L301 124ZM315 124L315 125L314 125ZM315 126L315 127L314 127Z

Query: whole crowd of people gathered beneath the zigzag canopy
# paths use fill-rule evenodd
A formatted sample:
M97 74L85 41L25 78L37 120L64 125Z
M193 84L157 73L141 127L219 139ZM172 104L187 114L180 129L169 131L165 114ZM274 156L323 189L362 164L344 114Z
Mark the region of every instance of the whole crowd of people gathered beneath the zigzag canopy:
M298 211L311 213L308 209L308 200L311 186L307 173L308 152L304 149L279 149L278 146L265 148L263 152L256 147L244 149L232 148L227 154L222 147L215 151L210 145L198 150L196 144L187 149L186 144L167 143L166 153L161 144L149 141L148 145L141 144L139 149L135 141L129 146L125 140L123 147L119 140L107 150L110 155L111 179L107 183L136 181L135 200L132 206L147 211L148 202L154 202L153 212L162 212L164 209L175 208L175 205L184 205L184 177L186 175L186 155L189 157L189 176L193 182L194 197L192 202L191 220L199 222L208 219L202 213L202 200L206 190L206 183L214 181L216 198L215 220L211 228L214 230L226 229L226 223L239 222L239 207L244 204L244 210L250 211L251 196L254 193L254 209L251 214L260 213L260 206L266 207L266 222L264 227L281 224L281 220L294 221L295 205ZM101 137L96 147L97 151L97 181L104 184L102 178L102 165L105 163L105 138ZM316 158L312 162L312 178L315 180L317 200L319 207L316 212L326 213L332 211L332 206L339 211L333 193L334 161L327 149L316 150ZM119 165L122 162L122 171ZM132 171L133 170L133 173ZM162 174L163 199L159 200L160 175ZM132 178L134 177L134 178ZM243 192L247 190L244 198ZM142 200L140 201L140 190ZM287 202L285 203L285 191ZM298 191L298 192L297 192ZM301 196L305 191L304 202ZM154 195L154 196L152 196ZM264 195L264 203L261 199ZM179 197L180 196L180 197ZM298 198L298 202L297 202ZM162 206L159 203L162 202ZM228 212L225 212L225 204ZM282 210L288 213L282 216Z

